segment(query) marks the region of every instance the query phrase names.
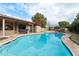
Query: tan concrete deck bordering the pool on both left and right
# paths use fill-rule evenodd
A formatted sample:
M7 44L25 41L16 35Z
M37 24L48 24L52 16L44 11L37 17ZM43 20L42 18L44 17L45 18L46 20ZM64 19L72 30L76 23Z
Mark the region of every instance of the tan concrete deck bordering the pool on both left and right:
M52 31L46 31L46 32L52 32ZM23 35L32 35L32 34L41 34L41 33L43 33L43 32L11 35L7 39L1 39L0 46L3 44L6 44L8 42L11 42L11 41L15 40L17 37L20 37ZM66 36L62 37L62 41L70 48L70 50L73 52L74 56L79 56L79 46L77 44L75 44L72 40L70 40Z

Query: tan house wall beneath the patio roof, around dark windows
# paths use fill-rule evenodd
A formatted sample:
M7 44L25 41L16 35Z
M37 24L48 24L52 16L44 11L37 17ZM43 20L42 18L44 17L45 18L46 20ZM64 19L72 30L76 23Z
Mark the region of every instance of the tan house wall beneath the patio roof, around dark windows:
M6 24L9 24L9 23L10 22L8 22L8 21L5 23L5 28L7 28ZM15 24L15 23L13 23L11 25L12 25L13 29L9 29L9 30L8 29L7 30L5 29L5 36L22 33L22 32L19 31L20 30L20 28L19 28L20 25ZM30 25L27 25L26 24L25 27L26 27L25 30L28 29L28 32L23 32L23 33L29 33L29 32L33 32L34 31L33 27L30 26ZM2 29L0 30L0 36L3 36L3 30Z

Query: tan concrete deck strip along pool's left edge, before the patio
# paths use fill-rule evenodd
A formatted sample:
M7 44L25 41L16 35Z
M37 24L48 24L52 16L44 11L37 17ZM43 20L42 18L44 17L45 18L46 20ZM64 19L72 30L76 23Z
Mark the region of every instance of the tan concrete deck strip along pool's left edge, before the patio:
M52 31L46 31L46 32L52 32ZM32 35L32 34L41 34L41 33L44 33L44 32L10 35L10 36L8 36L8 38L0 39L0 46L6 44L8 42L11 42L11 41L15 40L17 37L20 37L20 36L23 36L23 35Z

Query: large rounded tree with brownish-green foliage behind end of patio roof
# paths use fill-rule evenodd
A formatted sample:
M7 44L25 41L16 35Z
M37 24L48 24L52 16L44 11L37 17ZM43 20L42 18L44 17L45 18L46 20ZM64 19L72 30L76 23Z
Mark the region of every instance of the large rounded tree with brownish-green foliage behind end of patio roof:
M47 18L41 13L36 13L32 17L32 21L35 22L37 25L41 26L42 28L45 28L47 24Z

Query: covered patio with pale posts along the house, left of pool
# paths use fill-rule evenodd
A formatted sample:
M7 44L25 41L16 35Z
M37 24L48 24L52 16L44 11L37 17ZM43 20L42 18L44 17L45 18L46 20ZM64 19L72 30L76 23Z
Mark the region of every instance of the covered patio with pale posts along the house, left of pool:
M16 17L0 15L0 36L35 32L35 23Z

